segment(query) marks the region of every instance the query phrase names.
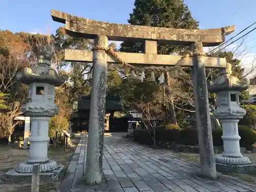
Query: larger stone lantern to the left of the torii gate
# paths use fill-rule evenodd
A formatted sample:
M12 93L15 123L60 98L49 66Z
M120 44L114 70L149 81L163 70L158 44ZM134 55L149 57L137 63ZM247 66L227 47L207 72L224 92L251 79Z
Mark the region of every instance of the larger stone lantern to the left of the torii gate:
M40 164L40 174L51 177L58 175L56 173L62 169L55 161L48 159L48 129L50 118L58 113L58 107L54 104L55 87L63 84L67 76L60 77L51 68L51 58L51 51L45 48L38 53L37 65L25 68L16 75L17 80L29 86L28 101L21 109L31 120L30 148L29 159L9 170L7 176L30 176L35 163Z

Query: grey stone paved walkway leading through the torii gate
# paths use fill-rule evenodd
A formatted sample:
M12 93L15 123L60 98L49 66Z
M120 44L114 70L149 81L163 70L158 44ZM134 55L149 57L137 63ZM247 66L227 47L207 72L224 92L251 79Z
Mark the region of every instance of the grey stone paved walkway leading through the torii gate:
M59 192L246 192L256 191L256 184L221 175L218 181L197 176L200 167L175 157L169 150L155 150L128 138L104 138L102 186L83 185L86 139L81 138L61 182Z

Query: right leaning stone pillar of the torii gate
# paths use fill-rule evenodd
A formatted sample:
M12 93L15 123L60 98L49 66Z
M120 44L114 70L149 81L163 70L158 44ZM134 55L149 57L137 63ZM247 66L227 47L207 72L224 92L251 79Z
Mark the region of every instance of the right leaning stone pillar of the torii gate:
M191 45L191 51L203 53L203 45L196 42ZM208 90L206 84L206 73L204 56L192 57L192 79L195 95L198 142L200 147L201 174L211 179L217 178L214 145L212 142L210 109L208 101Z

